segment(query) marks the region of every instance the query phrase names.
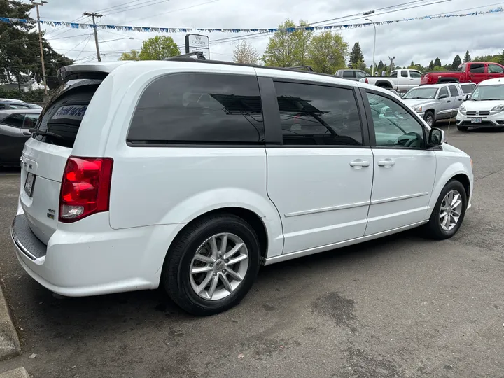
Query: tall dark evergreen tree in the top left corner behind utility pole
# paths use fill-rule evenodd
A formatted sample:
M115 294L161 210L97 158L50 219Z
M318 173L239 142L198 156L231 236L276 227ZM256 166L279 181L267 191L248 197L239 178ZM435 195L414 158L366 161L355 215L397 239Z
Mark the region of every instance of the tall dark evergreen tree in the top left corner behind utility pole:
M29 11L33 5L15 0L0 0L0 14L8 18L33 20ZM45 75L50 89L58 84L57 70L73 64L73 60L52 50L42 36ZM42 83L42 64L38 45L38 31L33 24L7 24L0 22L0 81L13 82L27 80Z

